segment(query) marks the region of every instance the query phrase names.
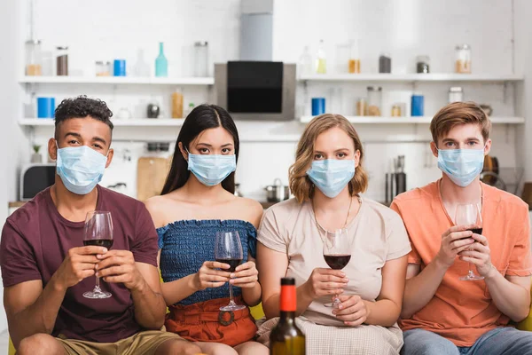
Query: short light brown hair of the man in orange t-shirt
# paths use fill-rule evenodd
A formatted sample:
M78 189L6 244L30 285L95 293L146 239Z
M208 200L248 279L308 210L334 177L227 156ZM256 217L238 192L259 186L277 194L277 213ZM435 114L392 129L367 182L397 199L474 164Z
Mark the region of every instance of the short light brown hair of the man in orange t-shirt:
M453 102L442 107L430 122L434 144L438 146L438 138L442 138L456 126L467 123L478 124L481 127L484 142L489 139L491 122L481 106L473 101Z

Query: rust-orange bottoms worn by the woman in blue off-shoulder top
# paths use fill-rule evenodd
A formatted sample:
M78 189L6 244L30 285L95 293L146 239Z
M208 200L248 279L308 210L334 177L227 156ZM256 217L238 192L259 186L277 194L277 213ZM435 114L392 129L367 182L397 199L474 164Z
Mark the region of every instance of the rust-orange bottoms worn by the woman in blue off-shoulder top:
M236 297L243 304L242 297ZM226 312L220 307L229 304L229 298L218 298L190 305L171 305L165 326L192 342L224 343L236 346L253 340L257 326L249 308Z

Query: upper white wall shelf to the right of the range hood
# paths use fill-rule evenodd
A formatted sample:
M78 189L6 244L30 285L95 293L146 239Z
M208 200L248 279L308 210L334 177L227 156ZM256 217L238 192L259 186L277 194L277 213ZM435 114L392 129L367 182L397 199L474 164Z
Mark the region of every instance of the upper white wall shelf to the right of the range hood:
M314 74L303 75L300 82L520 82L523 75L490 74Z

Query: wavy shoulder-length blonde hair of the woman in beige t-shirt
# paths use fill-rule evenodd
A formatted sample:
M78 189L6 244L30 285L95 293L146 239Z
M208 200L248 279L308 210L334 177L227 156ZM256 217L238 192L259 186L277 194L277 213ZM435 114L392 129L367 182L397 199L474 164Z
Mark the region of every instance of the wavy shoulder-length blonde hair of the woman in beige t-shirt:
M314 161L314 144L316 138L325 130L338 127L353 139L355 152L360 152L360 161L356 167L355 176L349 181L349 193L356 195L364 193L368 187L368 176L362 167L364 149L355 128L348 120L340 114L321 114L309 122L305 131L301 135L295 152L295 162L290 167L289 181L290 190L300 203L307 201L314 196L314 184L307 176L307 170Z

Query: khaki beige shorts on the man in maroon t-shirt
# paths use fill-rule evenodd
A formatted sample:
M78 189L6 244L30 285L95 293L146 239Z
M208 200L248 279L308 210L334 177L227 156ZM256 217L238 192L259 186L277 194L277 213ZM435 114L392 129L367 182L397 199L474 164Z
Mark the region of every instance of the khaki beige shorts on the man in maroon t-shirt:
M153 355L161 343L182 340L181 336L160 330L146 330L116 343L92 343L56 338L68 355Z

